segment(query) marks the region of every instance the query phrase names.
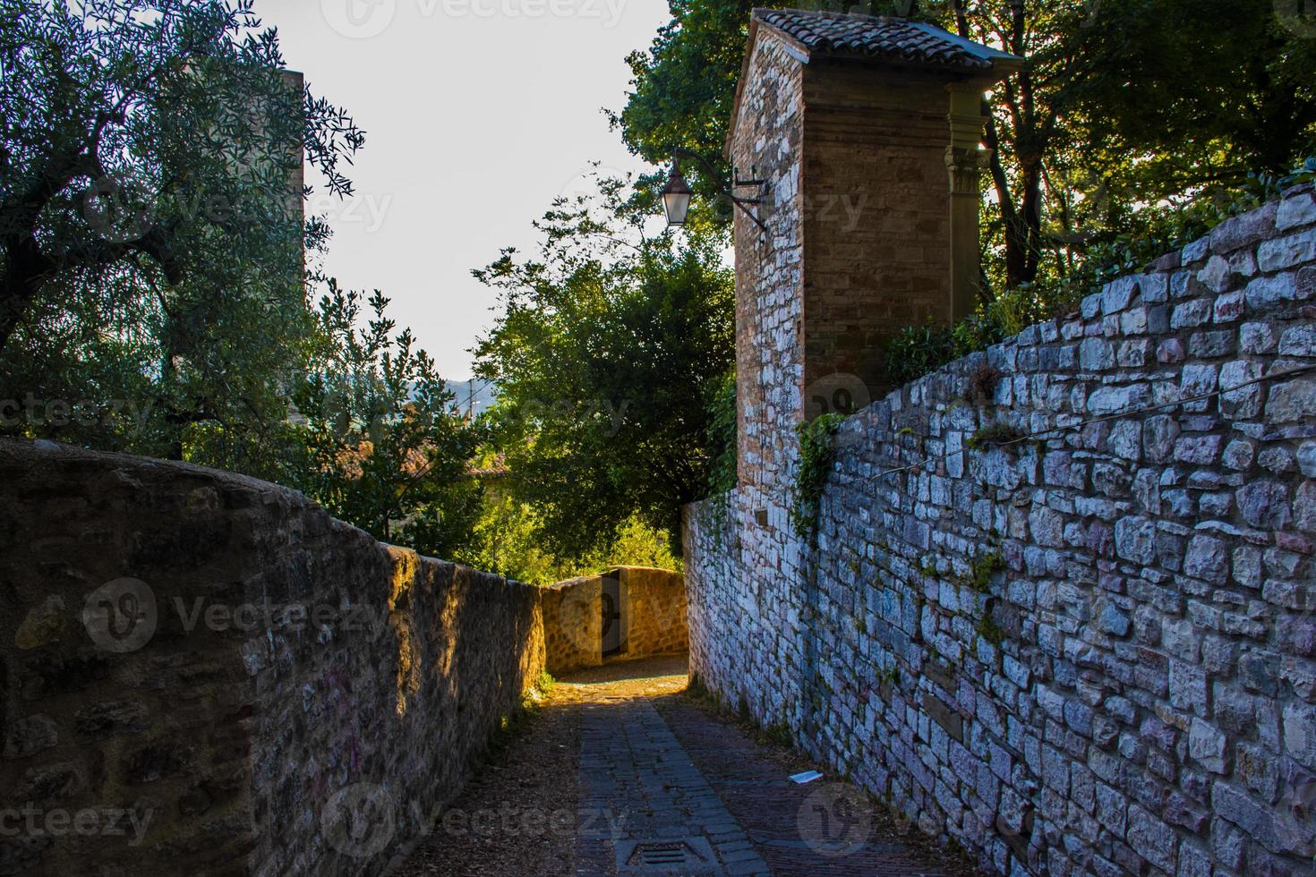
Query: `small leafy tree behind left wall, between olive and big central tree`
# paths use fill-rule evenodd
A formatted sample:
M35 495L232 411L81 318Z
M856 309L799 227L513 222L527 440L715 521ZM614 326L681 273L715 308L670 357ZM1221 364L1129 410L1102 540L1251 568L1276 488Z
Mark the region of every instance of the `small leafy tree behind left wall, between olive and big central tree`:
M280 459L284 483L379 539L450 557L470 542L482 489L470 477L479 431L396 330L388 300L329 284L317 343L292 396L297 414Z

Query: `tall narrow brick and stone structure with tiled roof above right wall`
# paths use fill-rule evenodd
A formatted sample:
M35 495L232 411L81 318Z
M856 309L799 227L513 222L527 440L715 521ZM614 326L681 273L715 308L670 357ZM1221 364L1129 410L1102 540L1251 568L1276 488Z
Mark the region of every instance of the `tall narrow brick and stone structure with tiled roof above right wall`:
M779 483L774 425L886 389L884 338L973 310L983 93L1021 63L903 18L754 11L728 138L769 184L769 234L736 226L742 484Z

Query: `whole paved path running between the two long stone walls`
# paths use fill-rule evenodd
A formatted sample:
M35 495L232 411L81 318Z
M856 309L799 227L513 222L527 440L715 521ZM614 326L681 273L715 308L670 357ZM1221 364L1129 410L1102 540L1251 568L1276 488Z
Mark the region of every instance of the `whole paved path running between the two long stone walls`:
M830 776L791 782L790 773L813 765L753 739L684 688L684 659L609 664L561 681L503 763L454 803L463 818L511 819L461 834L441 827L397 873L976 873ZM549 830L525 830L536 810L534 824Z

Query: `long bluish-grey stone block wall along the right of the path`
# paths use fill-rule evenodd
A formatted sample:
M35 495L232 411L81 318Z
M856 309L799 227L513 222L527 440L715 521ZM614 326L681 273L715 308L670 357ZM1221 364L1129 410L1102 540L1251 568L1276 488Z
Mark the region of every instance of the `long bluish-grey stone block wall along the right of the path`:
M816 547L691 508L692 672L1003 874L1312 874L1313 476L1300 187L849 418Z

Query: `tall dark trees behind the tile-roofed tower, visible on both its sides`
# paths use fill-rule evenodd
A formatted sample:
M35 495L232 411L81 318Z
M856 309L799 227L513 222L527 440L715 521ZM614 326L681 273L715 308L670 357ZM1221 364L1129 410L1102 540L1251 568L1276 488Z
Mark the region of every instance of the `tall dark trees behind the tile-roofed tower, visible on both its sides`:
M721 154L753 5L809 4L671 0L671 22L628 58L632 92L612 114L632 151L654 163L671 146ZM1316 26L1273 0L812 5L933 21L1028 58L994 89L984 135L998 292L1073 268L1103 233L1145 224L1157 199L1282 172L1312 149ZM687 170L711 196L713 181Z

